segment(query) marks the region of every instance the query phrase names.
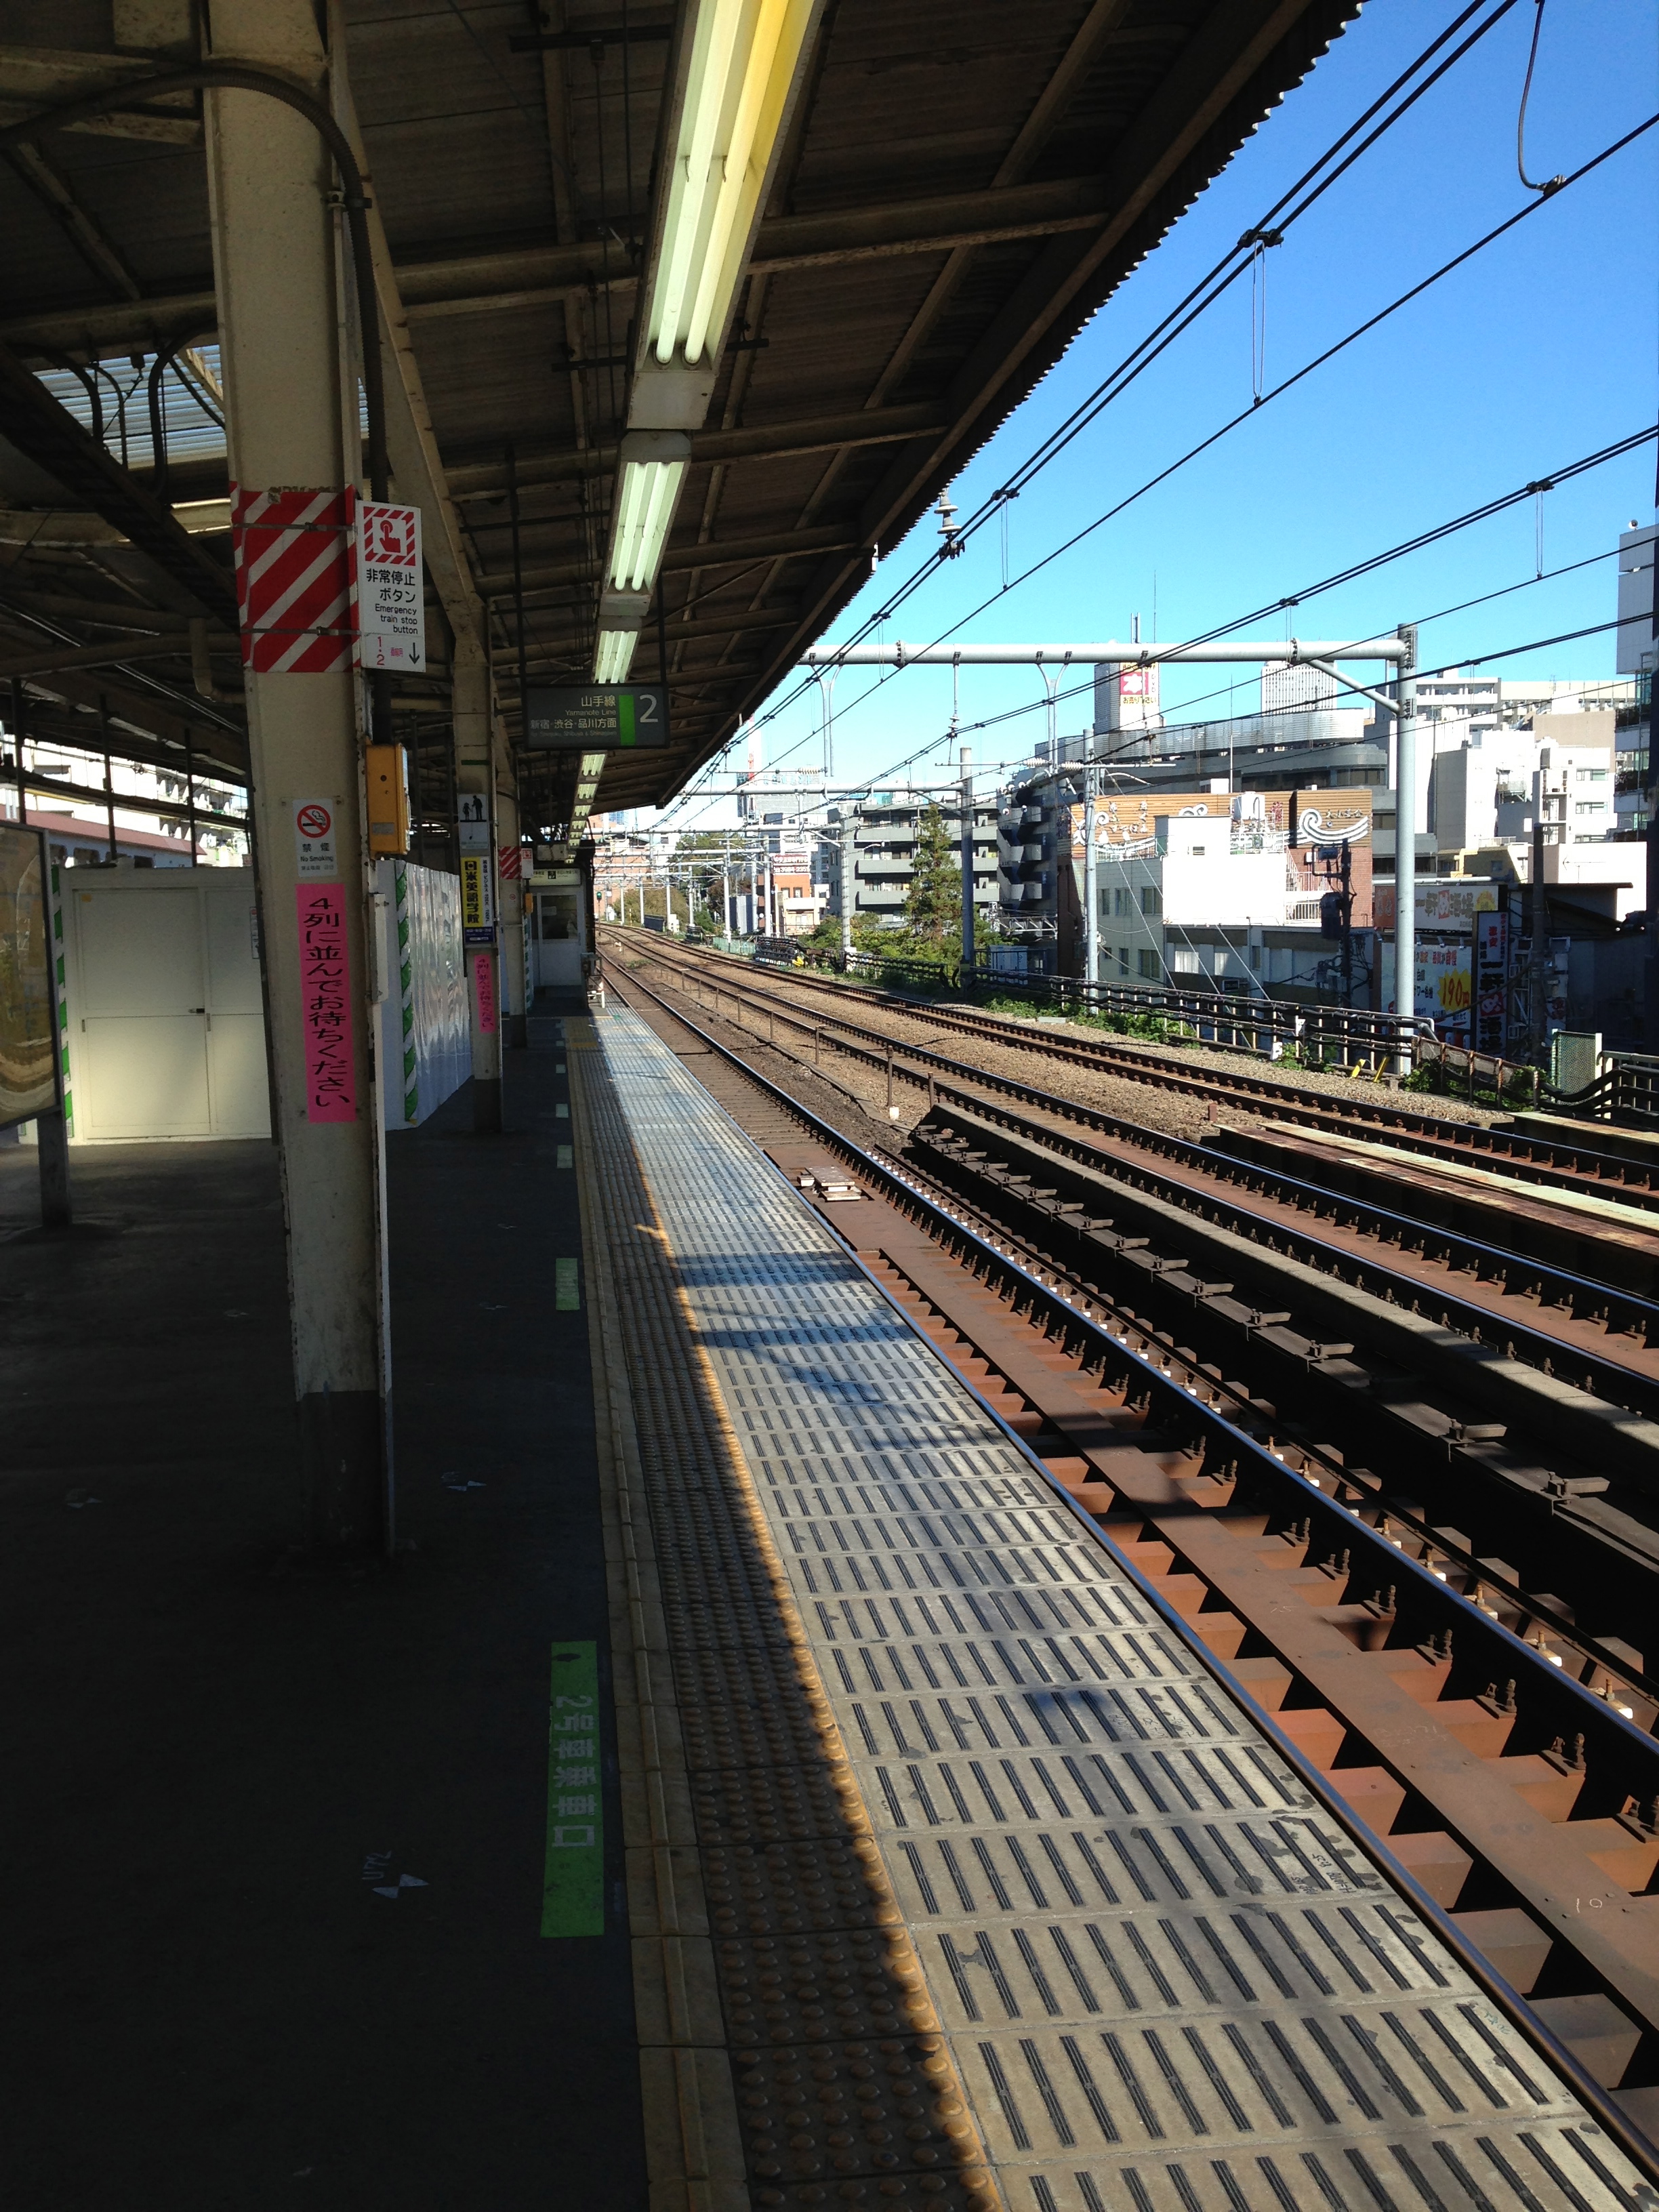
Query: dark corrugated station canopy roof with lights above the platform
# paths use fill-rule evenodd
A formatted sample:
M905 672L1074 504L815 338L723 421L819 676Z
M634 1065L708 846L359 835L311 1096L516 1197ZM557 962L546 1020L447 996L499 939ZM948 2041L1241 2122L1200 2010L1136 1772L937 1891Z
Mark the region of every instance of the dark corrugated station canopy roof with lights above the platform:
M334 0L389 376L434 440L394 484L431 599L405 728L442 732L473 619L515 734L522 611L531 684L666 664L670 748L608 754L588 805L670 799L1356 11ZM190 20L0 0L0 38L53 40L0 44L0 124L135 86L0 166L0 675L66 739L97 710L234 774L201 93L142 97ZM524 768L557 834L575 761Z

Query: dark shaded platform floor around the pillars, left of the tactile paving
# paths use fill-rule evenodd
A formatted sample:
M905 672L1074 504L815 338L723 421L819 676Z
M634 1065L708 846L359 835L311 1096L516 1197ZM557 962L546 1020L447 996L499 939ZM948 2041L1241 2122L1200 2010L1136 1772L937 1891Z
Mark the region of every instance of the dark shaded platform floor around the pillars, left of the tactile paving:
M549 1648L608 1661L535 1033L502 1137L462 1091L389 1146L392 1568L294 1548L270 1146L77 1148L97 1234L0 1243L18 2212L644 2203L619 1854L608 1933L540 1936ZM0 1234L33 1175L0 1152Z

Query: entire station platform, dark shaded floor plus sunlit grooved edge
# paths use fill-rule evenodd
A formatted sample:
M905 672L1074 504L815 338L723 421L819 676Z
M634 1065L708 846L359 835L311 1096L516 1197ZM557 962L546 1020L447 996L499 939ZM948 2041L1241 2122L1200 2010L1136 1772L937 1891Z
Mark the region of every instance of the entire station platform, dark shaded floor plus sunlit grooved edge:
M699 1057L538 1006L392 1144L389 1564L270 1148L0 1243L9 2203L1644 2212Z

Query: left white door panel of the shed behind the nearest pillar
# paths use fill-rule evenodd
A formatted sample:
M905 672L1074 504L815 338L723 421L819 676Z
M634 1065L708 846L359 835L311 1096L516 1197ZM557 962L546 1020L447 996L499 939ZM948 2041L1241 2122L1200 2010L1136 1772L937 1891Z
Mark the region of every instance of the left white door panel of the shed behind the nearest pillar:
M73 887L75 1119L86 1137L208 1137L208 998L195 885Z

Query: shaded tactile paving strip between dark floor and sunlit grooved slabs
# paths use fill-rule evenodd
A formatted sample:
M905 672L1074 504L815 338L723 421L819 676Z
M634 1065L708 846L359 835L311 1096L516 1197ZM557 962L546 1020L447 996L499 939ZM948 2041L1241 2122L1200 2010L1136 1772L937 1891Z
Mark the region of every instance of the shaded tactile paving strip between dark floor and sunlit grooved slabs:
M591 1048L608 1020L566 1040L653 2208L995 2212L787 1568Z

